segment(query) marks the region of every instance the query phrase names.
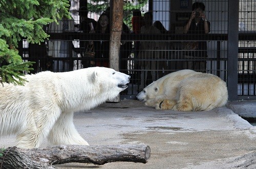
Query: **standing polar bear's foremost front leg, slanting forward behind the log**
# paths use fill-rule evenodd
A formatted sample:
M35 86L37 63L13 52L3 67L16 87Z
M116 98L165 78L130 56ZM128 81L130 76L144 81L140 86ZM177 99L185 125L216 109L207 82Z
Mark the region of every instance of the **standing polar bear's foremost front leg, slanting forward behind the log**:
M87 145L73 123L73 112L63 112L54 124L48 140L53 145Z

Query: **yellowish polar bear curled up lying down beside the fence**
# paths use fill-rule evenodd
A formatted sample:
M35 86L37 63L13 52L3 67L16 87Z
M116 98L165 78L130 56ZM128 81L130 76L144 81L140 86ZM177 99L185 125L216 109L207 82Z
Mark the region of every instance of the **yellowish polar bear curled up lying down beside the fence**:
M156 109L204 111L224 106L228 93L226 82L216 75L180 70L152 82L137 98Z

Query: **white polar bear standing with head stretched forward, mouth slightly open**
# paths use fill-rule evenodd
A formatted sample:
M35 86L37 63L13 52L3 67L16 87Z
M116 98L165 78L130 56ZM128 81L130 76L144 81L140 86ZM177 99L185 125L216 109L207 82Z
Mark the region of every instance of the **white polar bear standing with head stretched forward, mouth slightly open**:
M16 146L37 148L44 138L52 145L88 145L73 124L75 111L89 110L115 98L130 76L110 68L26 75L24 86L0 87L0 135L16 134Z

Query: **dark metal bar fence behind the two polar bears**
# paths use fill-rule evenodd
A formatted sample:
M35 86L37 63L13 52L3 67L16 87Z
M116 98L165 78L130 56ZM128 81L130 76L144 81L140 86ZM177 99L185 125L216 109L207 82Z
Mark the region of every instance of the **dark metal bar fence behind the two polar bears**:
M88 1L92 4L93 1ZM129 1L128 1L129 2ZM204 12L209 23L210 32L202 31L184 34L184 26L189 21L192 4L194 1L149 1L139 5L139 1L133 1L133 5L124 5L124 20L119 65L120 71L131 75L129 88L121 93L122 97L134 99L138 92L152 81L177 70L193 69L206 73L216 74L228 81L228 7L230 1L201 1L205 5ZM97 4L88 6L88 17L98 21L104 12L110 12L108 5L111 1L101 6ZM20 55L24 60L35 61L34 71L51 70L63 72L91 66L108 66L109 32L89 33L81 31L82 17L79 15L81 8L79 1L71 1L71 13L73 20L67 23L66 19L60 19L59 25L50 25L46 31L51 35L44 43L28 44L26 40L20 42ZM135 8L136 7L136 8ZM249 7L249 8L248 8ZM90 9L91 8L91 9ZM240 1L239 3L239 53L238 53L238 89L239 99L255 99L255 4L254 1ZM136 19L135 9L139 9L141 16L151 12L152 24L155 27L162 23L165 29L141 32L134 27ZM97 11L98 10L98 11ZM147 14L146 14L147 15ZM135 19L133 19L133 17ZM111 20L111 18L109 18ZM203 24L205 20L201 20ZM63 32L62 25L69 25ZM145 23L143 23L145 24ZM98 29L97 25L94 29ZM90 27L89 27L90 29ZM137 31L137 32L136 32ZM94 43L96 56L89 57L86 54L88 43ZM188 42L196 42L196 49L190 50ZM102 45L103 44L103 45ZM203 46L203 47L202 47ZM98 52L98 48L101 51ZM100 54L97 54L100 53ZM228 84L228 87L230 84Z

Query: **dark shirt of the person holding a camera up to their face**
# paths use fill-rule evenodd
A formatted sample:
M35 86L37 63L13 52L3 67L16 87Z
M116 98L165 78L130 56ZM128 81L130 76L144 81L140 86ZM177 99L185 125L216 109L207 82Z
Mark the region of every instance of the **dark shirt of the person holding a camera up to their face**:
M209 32L210 32L210 22L208 22ZM195 20L192 20L191 25L187 34L205 34L204 30L204 20L200 20L198 24L196 24ZM193 52L193 55L197 57L207 57L207 43L206 41L199 41L198 42L198 49L197 51Z

